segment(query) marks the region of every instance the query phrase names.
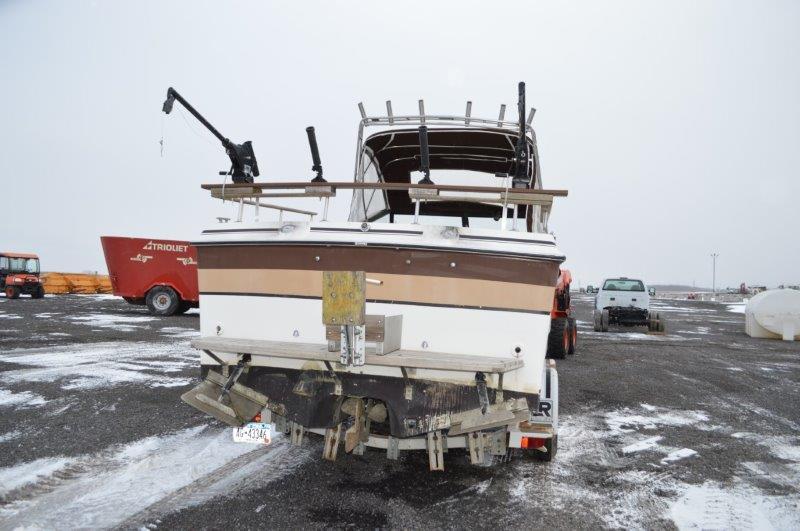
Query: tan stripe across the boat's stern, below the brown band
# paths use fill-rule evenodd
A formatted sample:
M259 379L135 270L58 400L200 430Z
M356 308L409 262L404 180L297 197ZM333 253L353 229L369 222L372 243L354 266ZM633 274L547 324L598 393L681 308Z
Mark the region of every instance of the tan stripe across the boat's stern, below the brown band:
M446 306L549 312L553 288L466 278L367 273L367 299ZM322 272L291 269L200 269L202 293L321 297Z

